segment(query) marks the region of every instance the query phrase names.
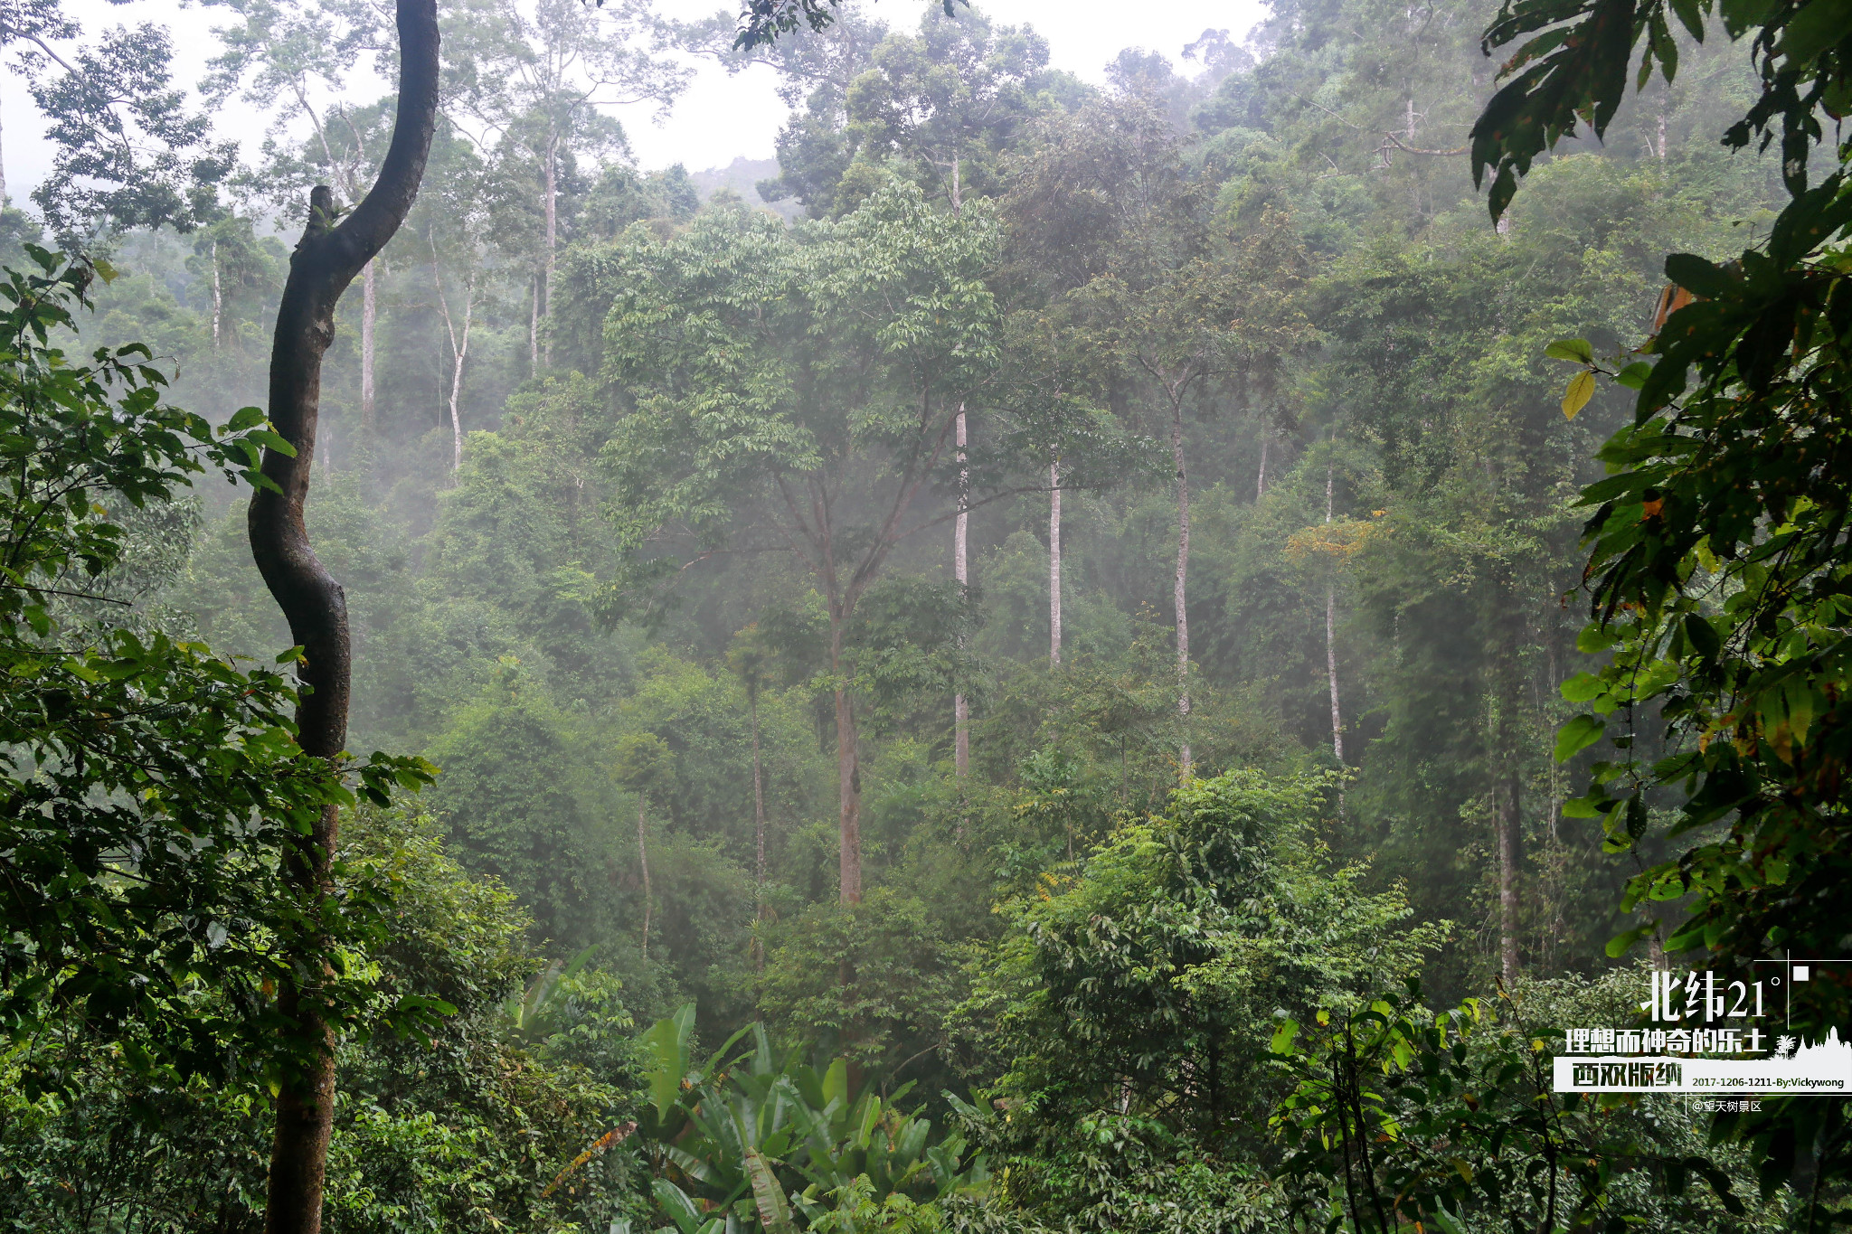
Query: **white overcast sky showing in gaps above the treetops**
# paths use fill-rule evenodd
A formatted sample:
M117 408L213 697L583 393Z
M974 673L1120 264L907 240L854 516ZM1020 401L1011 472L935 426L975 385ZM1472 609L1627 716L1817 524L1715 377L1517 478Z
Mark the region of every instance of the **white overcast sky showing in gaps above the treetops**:
M107 26L157 22L174 31L178 68L181 78L196 81L206 59L215 52L211 28L224 20L224 11L181 6L180 0L131 0L104 4L102 0L67 0L74 17L93 37ZM659 0L661 11L674 17L700 17L719 7L720 0ZM1104 67L1120 48L1143 46L1182 61L1185 43L1204 30L1228 30L1241 39L1261 17L1258 0L978 0L978 7L998 24L1032 24L1050 43L1054 63L1089 81L1104 80ZM872 15L889 26L911 26L922 11L920 0L876 0ZM798 35L802 37L802 35ZM620 107L615 115L630 133L632 148L644 168L682 163L691 172L726 167L735 157L769 159L778 128L785 118L783 104L772 93L774 74L752 68L728 76L711 63L700 63L689 91L676 102L667 120L656 122L650 107ZM352 83L356 96L378 96L376 81L365 78ZM26 93L26 83L7 65L0 70L0 159L6 167L6 187L15 202L43 179L50 167L50 146L43 122ZM254 152L263 137L265 117L243 104L228 105L215 117L215 126L226 137L235 137Z

